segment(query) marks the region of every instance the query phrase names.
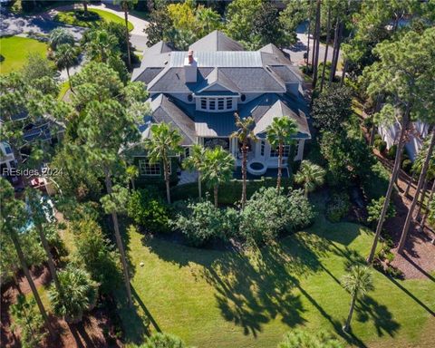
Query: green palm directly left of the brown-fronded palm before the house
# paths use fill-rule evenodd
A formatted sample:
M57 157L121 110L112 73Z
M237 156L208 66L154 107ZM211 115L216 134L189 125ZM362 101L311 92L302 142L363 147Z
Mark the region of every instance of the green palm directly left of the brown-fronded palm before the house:
M208 186L213 188L215 207L218 208L219 185L227 182L233 176L234 157L218 146L215 149L207 149L204 159L204 179Z

